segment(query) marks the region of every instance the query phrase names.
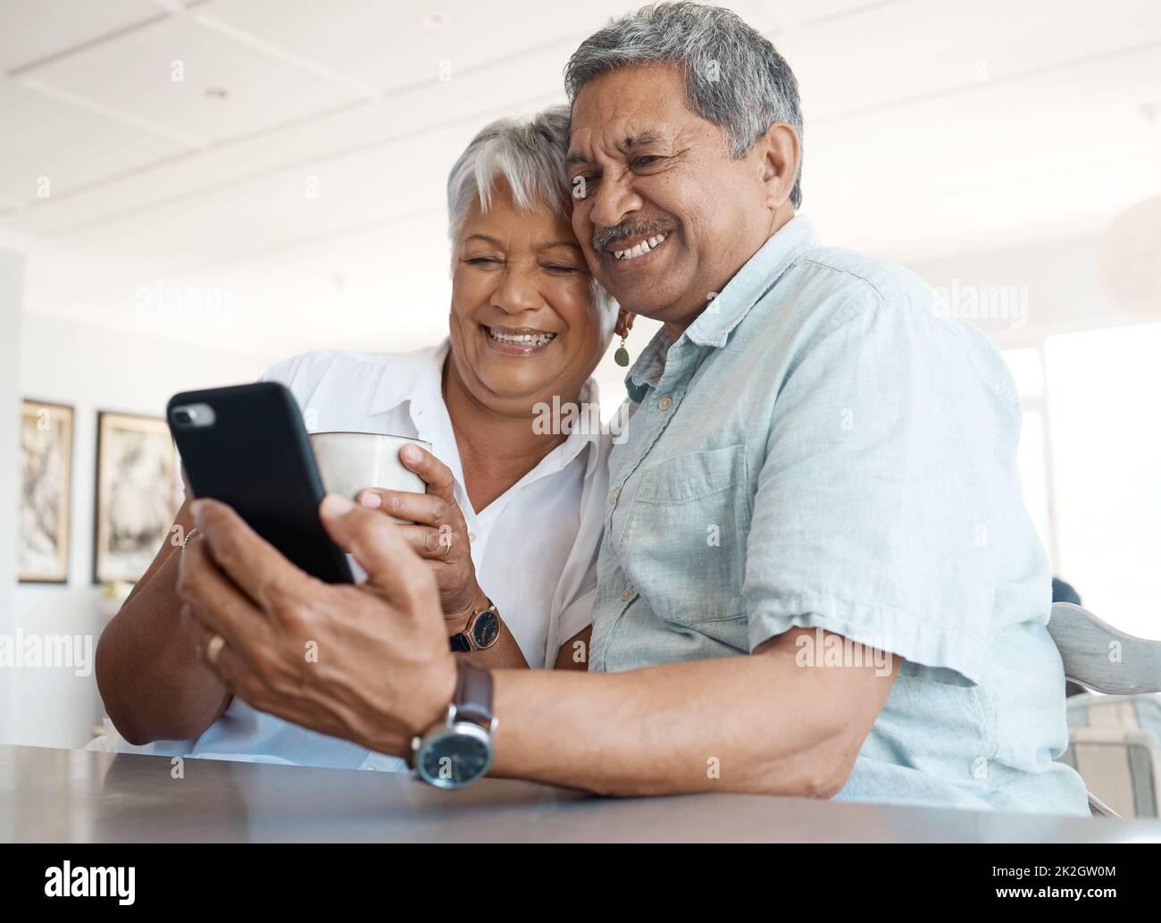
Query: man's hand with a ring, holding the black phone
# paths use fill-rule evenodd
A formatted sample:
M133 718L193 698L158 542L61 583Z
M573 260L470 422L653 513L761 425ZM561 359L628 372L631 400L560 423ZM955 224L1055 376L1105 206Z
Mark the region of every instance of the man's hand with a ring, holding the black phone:
M327 584L288 562L229 506L193 505L181 556L183 622L209 668L262 712L406 755L456 684L435 577L387 517L329 495L319 519L367 581Z

